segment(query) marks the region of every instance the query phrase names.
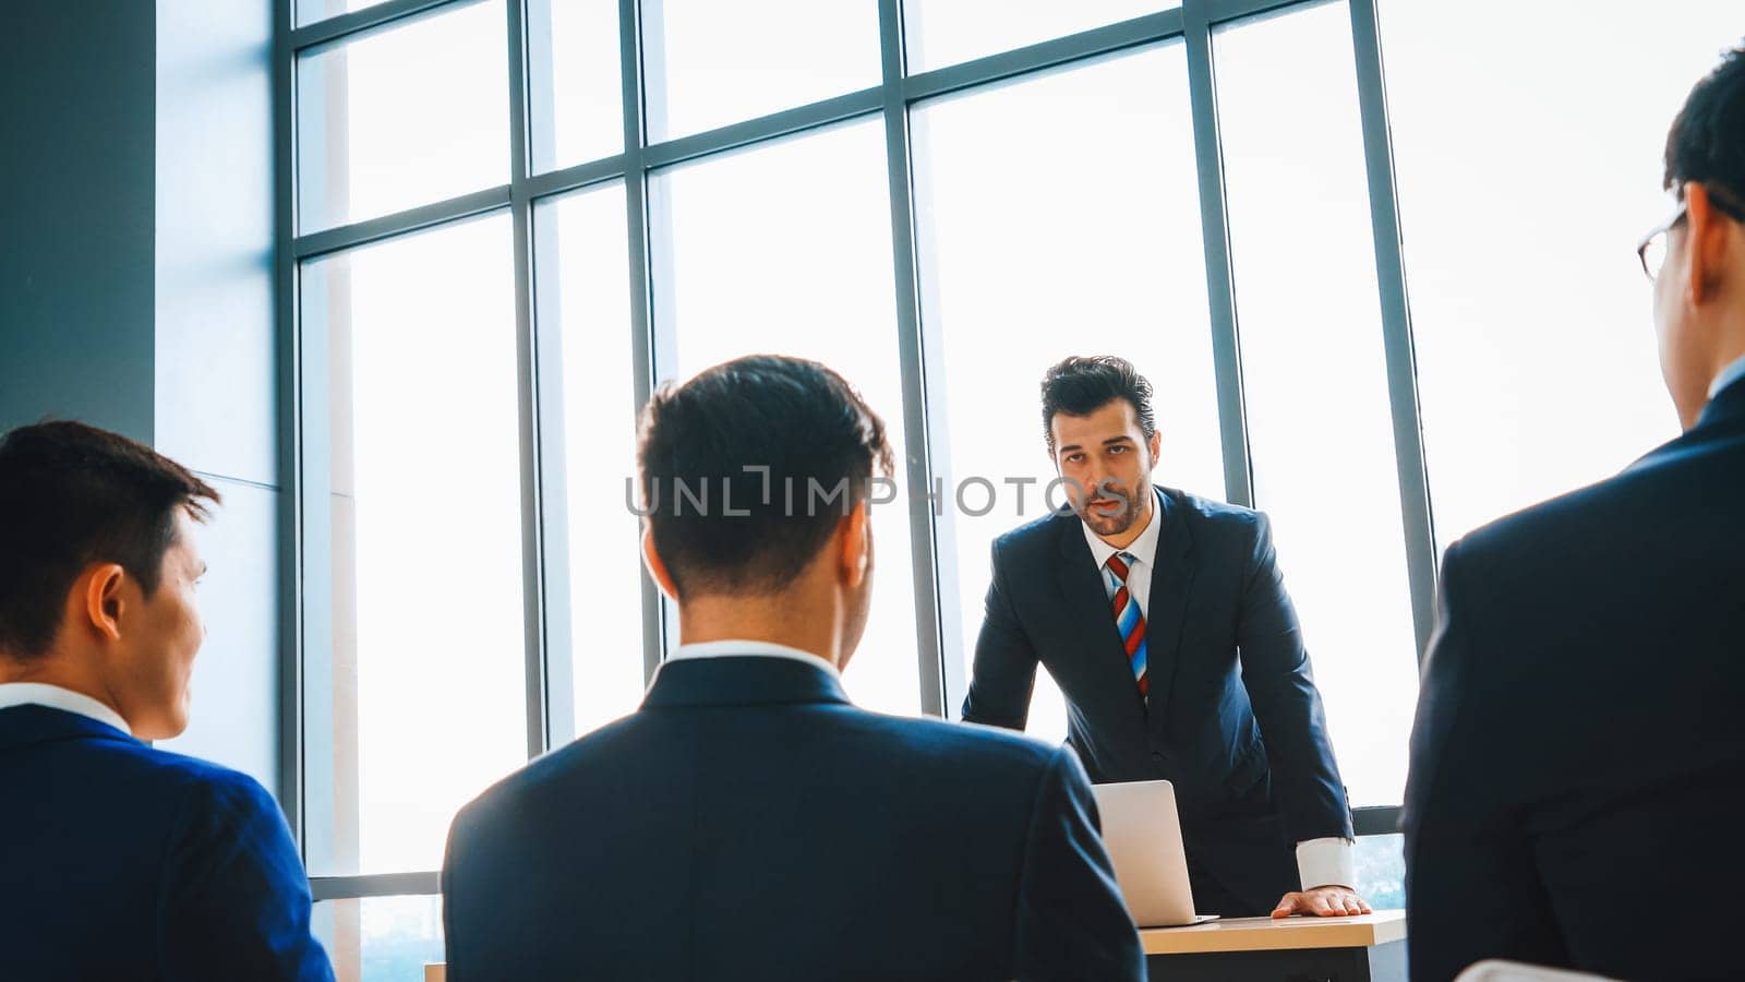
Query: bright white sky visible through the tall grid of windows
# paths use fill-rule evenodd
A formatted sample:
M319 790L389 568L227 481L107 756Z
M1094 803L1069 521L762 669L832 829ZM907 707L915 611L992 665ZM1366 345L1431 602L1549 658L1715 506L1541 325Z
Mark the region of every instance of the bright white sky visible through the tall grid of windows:
M653 7L653 5L651 5ZM661 3L663 133L878 82L872 3ZM541 159L618 149L616 3L551 5L562 124ZM930 0L937 66L1145 12ZM1626 0L1382 0L1389 101L1438 536L1604 477L1673 433L1633 245L1663 218L1659 149L1684 93L1740 33L1733 0L1637 16ZM503 0L372 35L344 59L339 208L304 231L508 180ZM1502 28L1501 24L1506 24ZM536 59L541 56L536 52ZM1394 804L1415 678L1380 313L1342 3L1216 38L1256 498L1274 517L1354 804ZM585 94L597 93L597 94ZM537 100L536 100L537 103ZM571 107L574 110L571 112ZM948 481L1052 470L1037 381L1122 353L1157 386L1157 479L1222 496L1206 280L1180 45L916 107L916 211L932 407ZM546 135L536 135L536 145ZM304 173L314 175L312 161ZM879 119L656 175L656 315L686 376L745 351L845 370L902 440ZM543 206L546 325L562 332L576 718L640 695L623 190ZM352 253L363 872L435 868L454 809L524 758L522 557L510 224L490 217ZM661 266L658 264L656 269ZM305 271L307 274L309 271ZM604 442L595 426L609 423ZM967 657L988 543L1021 521L941 526L946 615ZM1037 512L1026 501L1026 515ZM848 687L918 709L906 503L876 515L872 627ZM612 559L616 556L616 559ZM443 584L464 580L462 596ZM955 711L956 708L953 708ZM1038 681L1031 730L1064 732ZM319 751L321 734L311 734ZM319 790L311 800L319 800ZM314 870L352 872L352 870Z

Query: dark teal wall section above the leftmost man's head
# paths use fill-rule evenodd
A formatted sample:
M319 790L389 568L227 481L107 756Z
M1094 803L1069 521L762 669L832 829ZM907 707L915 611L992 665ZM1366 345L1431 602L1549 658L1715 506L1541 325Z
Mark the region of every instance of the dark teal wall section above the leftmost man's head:
M0 9L0 430L152 439L154 10Z

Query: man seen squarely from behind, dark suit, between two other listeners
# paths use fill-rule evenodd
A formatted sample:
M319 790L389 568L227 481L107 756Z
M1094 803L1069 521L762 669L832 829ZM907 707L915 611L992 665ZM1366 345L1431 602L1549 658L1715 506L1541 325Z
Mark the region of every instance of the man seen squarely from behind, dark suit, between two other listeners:
M1070 751L843 692L890 470L860 397L740 358L656 393L639 456L681 645L637 713L455 816L448 977L1143 979Z

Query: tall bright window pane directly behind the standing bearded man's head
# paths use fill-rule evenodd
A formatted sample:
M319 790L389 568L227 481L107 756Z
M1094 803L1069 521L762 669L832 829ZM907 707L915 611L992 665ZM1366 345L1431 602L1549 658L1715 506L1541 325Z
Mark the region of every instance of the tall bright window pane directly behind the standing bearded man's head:
M1133 360L1157 393L1155 481L1223 496L1187 59L1167 44L923 103L913 119L923 320L944 356L944 479L967 501L949 512L961 645L948 657L968 660L989 543L1040 517L1057 477L1037 397L1049 365ZM1103 161L1131 178L1085 180ZM1066 736L1045 671L1030 732Z

